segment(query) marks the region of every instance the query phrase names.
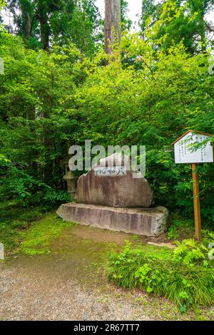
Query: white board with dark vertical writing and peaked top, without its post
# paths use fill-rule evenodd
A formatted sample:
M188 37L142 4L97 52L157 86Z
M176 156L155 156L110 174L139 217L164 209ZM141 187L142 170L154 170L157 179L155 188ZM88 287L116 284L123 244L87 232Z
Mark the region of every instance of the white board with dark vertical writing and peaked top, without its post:
M210 136L203 133L188 132L174 143L175 163L213 163L213 145L210 141L200 148L193 148L195 143L203 143Z

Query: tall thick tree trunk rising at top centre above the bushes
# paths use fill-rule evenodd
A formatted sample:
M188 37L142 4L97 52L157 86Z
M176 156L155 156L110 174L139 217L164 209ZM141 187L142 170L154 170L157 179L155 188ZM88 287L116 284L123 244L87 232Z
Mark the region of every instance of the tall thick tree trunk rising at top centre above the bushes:
M121 40L121 0L105 0L105 50L112 53L112 44Z

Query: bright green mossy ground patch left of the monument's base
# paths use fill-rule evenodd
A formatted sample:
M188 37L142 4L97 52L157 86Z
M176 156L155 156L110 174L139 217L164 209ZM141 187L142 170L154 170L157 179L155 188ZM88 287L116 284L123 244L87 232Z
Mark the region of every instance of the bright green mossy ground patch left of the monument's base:
M46 254L52 239L70 223L63 222L54 210L44 207L19 207L16 202L0 204L0 242L6 255L14 252Z

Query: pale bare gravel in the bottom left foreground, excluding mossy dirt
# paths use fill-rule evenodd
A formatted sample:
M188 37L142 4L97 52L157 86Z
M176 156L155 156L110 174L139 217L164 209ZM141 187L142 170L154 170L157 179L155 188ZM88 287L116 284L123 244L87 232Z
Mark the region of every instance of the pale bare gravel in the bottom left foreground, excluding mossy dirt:
M86 292L74 279L34 269L0 264L1 320L149 320L123 297Z

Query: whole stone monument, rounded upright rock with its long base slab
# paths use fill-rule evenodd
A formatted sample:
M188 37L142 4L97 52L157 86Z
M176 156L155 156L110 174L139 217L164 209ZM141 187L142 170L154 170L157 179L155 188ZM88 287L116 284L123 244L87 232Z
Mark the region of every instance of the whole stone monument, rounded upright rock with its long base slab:
M156 237L168 227L168 210L154 207L148 181L132 171L129 158L114 154L78 179L77 203L61 205L63 220L108 230Z

